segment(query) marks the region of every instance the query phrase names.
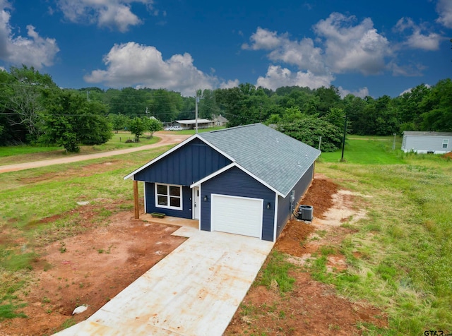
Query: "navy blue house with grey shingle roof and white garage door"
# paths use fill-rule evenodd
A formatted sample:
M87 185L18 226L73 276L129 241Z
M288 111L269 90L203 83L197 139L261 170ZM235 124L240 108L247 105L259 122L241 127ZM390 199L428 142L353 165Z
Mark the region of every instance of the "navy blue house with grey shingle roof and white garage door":
M144 182L146 213L276 241L314 178L320 153L251 124L195 134L124 179Z

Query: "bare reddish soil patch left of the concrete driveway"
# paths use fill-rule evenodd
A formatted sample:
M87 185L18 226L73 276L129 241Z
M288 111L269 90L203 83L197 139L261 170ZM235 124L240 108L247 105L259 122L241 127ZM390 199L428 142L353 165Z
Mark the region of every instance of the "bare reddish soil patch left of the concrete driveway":
M85 207L85 208L89 208ZM90 222L83 212L83 223ZM57 218L47 219L46 222ZM37 251L32 284L21 299L28 318L0 323L0 335L44 335L73 318L85 320L185 240L171 236L179 227L133 220L131 212L109 217L109 224L55 241ZM77 306L88 309L72 316Z

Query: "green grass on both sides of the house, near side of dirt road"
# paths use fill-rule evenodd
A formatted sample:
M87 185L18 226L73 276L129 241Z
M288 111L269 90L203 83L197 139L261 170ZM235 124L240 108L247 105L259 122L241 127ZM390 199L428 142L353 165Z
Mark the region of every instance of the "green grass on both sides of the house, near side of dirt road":
M389 330L366 325L365 335L452 332L452 160L392 150L392 138L353 138L345 162L340 151L323 153L316 172L366 196L357 206L367 218L344 223L354 233L333 246L346 256L347 270L333 277L316 267L319 260L311 274L388 315ZM37 248L83 229L71 215L77 201L98 205L97 220L105 224L105 203L117 202L118 211L131 207L131 182L123 177L168 148L0 174L0 227L12 237L0 240L0 321L20 314L18 297L31 281ZM52 215L62 217L36 224Z

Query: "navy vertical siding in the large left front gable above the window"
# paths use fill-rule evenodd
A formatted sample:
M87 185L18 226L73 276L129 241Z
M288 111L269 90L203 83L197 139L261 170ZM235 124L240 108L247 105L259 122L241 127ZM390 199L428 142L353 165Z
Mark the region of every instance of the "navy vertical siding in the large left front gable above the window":
M133 175L137 181L190 186L230 164L231 160L194 138L178 150ZM153 192L154 189L152 189Z

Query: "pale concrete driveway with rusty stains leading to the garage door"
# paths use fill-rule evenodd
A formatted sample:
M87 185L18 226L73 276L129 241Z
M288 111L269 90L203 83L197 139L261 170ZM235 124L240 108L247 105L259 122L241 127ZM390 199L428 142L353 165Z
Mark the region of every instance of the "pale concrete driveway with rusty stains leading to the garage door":
M57 335L222 335L273 243L181 227L181 246Z

